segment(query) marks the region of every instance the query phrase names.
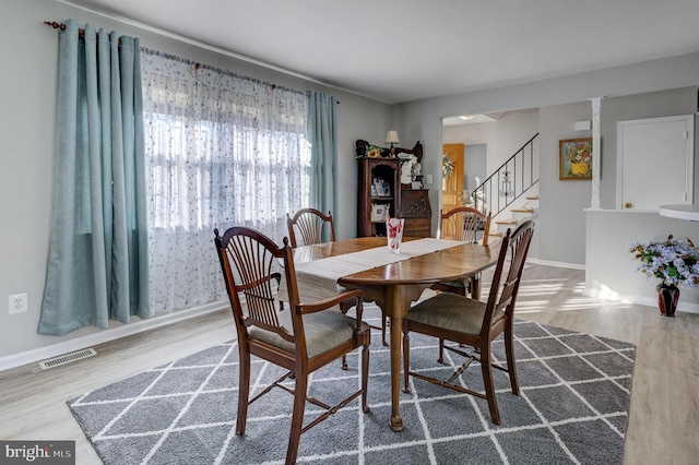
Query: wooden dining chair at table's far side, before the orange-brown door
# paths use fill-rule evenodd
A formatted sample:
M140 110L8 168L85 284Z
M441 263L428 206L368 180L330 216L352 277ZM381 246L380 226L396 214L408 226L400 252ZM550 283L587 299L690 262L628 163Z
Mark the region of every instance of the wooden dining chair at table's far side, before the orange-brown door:
M440 238L460 240L471 243L488 245L488 234L490 230L490 214L483 214L470 206L458 206L447 213L440 211ZM478 239L483 231L482 239ZM481 298L481 273L463 281L450 281L437 283L433 287L435 290L454 293L465 296L467 293L474 299Z

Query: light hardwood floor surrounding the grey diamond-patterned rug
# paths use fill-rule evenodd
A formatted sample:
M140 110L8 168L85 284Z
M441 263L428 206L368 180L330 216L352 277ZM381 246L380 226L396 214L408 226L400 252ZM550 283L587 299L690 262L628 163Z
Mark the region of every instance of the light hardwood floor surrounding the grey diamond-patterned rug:
M636 344L625 463L697 463L699 314L665 318L583 290L582 271L528 265L518 318ZM234 336L230 313L222 311L97 346L97 356L78 362L0 372L0 439L75 440L76 464L98 464L66 401Z

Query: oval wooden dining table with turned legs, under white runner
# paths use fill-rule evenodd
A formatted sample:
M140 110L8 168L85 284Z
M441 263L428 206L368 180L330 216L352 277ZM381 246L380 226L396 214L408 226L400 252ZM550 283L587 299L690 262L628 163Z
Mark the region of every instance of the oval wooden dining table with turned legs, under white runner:
M410 239L406 238L406 240ZM378 247L387 247L384 237L365 237L306 246L295 249L294 262L312 262ZM495 265L498 250L499 248L475 243L459 245L417 257L406 257L405 260L348 274L337 281L337 284L348 289L362 289L364 299L375 301L391 319L390 422L394 431L403 429L403 418L400 413L401 327L411 302L417 300L422 293L435 283L465 279ZM303 279L303 274L298 273L297 278Z

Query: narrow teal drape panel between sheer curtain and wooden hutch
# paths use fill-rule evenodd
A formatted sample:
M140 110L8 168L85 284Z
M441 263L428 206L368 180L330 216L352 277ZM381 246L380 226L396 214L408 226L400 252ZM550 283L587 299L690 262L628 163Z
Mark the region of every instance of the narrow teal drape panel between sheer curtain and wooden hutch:
M310 203L337 215L337 100L320 92L308 96L308 140L311 144Z

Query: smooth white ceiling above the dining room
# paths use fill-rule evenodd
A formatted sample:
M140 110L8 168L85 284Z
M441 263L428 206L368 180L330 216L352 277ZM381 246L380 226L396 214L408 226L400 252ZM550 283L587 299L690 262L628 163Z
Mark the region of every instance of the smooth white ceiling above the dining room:
M388 104L699 51L699 0L60 1Z

